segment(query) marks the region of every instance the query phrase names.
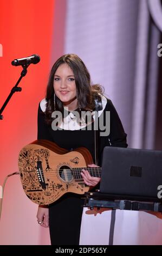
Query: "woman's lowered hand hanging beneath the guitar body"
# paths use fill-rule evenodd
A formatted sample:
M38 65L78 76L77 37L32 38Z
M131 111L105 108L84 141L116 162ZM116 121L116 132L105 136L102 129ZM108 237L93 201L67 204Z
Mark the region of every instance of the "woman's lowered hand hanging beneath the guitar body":
M37 211L37 222L44 228L49 227L49 209L47 205L39 205Z

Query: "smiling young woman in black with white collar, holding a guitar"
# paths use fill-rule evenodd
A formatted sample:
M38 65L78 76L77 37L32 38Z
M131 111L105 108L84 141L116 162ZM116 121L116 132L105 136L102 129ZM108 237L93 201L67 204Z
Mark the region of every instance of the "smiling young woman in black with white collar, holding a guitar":
M96 99L100 105L98 116ZM60 113L59 118L55 113ZM127 147L126 133L112 102L103 96L98 84L92 86L90 83L89 72L82 60L75 54L60 57L51 69L46 99L38 108L37 138L55 142L69 151L85 147L93 157L93 163L88 166L95 167L96 119L99 124L97 157L101 164L105 146ZM87 170L83 169L81 174L88 186L95 187L100 182L100 178L90 176ZM38 207L37 221L42 227L49 226L51 245L79 245L81 197L66 193L48 208Z

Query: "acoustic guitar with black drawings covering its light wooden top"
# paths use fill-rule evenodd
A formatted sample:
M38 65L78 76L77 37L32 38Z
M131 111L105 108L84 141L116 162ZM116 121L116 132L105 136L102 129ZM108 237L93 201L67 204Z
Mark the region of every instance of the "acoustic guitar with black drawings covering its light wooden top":
M18 156L23 190L31 201L41 205L51 204L68 192L89 191L81 176L82 169L91 176L101 176L101 167L87 167L92 163L88 149L69 151L44 139L26 145Z

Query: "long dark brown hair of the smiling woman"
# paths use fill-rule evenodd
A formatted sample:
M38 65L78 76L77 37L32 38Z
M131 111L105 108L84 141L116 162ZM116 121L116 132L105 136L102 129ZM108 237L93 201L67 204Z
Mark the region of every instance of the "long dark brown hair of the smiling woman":
M99 84L91 85L90 74L82 62L82 60L76 54L65 54L56 60L53 65L48 86L46 90L46 121L51 124L53 118L51 118L51 113L54 112L54 75L61 64L66 63L70 69L73 70L76 84L76 97L77 103L81 110L93 111L95 109L94 98L98 94L102 94L102 87ZM55 95L55 110L61 111L63 113L63 104L61 100Z

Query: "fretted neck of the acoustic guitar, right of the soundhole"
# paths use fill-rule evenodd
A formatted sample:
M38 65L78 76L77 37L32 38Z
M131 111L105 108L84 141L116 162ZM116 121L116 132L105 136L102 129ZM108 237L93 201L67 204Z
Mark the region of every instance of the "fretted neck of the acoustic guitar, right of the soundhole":
M101 177L101 167L72 168L71 172L73 174L74 179L82 179L82 169L88 170L90 176L98 178Z

